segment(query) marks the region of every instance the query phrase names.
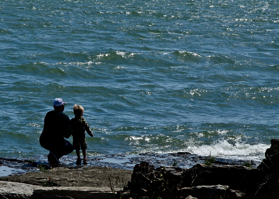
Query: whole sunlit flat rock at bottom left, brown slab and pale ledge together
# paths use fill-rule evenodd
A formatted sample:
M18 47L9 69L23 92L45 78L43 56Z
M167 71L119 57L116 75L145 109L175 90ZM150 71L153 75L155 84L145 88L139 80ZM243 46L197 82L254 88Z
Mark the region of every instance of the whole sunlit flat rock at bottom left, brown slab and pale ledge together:
M130 179L130 170L58 167L0 177L0 199L113 199Z

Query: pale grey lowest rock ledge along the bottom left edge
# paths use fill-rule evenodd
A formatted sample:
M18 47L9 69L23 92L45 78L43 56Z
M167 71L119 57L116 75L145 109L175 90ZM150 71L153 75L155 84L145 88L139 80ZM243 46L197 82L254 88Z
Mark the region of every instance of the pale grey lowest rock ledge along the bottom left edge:
M119 191L116 189L115 191ZM40 187L20 182L0 181L0 199L113 199L108 187Z

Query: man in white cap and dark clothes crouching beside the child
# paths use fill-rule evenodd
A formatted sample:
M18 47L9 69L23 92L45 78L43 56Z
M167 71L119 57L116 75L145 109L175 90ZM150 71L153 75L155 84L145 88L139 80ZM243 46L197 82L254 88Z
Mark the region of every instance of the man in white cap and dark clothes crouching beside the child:
M50 164L60 164L59 158L73 152L73 145L64 139L73 132L69 117L63 113L66 102L62 98L53 101L54 110L47 112L44 129L40 136L40 145L49 150L47 157Z

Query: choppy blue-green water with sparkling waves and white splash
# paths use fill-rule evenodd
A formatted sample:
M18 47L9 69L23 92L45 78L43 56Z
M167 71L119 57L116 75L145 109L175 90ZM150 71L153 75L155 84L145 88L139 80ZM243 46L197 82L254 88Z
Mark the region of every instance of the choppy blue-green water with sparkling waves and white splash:
M54 98L87 155L260 161L279 135L279 2L3 0L0 157L44 156ZM71 138L69 139L71 141ZM75 155L75 152L70 154Z

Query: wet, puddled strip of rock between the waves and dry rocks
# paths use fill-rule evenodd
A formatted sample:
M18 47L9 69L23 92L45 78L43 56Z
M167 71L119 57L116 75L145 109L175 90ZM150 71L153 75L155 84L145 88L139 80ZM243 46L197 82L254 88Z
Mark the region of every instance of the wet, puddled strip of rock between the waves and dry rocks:
M264 154L261 154L262 156ZM205 162L206 155L196 155L188 152L168 153L168 154L156 154L156 153L141 153L137 155L104 155L104 156L89 156L88 163L81 166L99 166L99 167L110 167L119 168L124 170L133 170L136 164L141 162L149 162L155 167L160 166L173 166L174 162L176 166L180 168L191 168L195 164ZM257 167L261 160L250 160L248 157L238 157L237 159L225 159L216 157L215 165L231 165L241 166L244 162L250 162L252 167ZM76 155L64 156L60 158L60 165L54 165L55 168L77 168ZM37 157L0 157L0 177L6 175L23 174L28 171L40 171L43 166L45 169L54 168L53 165L49 165L47 156ZM1 168L5 167L6 172L2 172ZM9 167L9 168L7 168ZM8 172L10 171L10 173Z

